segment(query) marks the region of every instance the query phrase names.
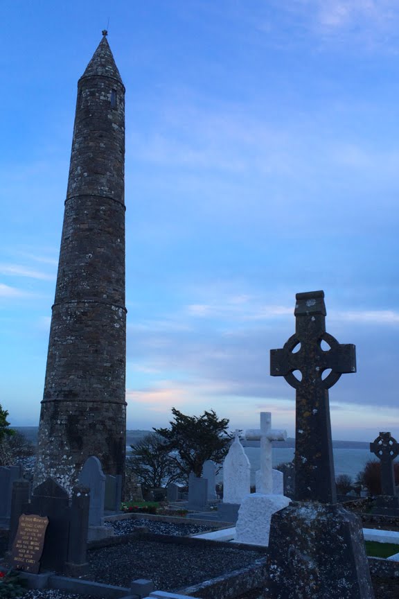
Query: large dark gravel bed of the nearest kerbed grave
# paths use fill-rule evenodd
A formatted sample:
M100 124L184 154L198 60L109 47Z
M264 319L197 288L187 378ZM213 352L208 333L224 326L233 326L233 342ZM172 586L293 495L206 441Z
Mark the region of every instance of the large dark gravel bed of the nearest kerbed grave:
M262 559L251 550L144 540L91 550L88 558L90 580L130 587L136 578L149 578L163 591L182 589Z

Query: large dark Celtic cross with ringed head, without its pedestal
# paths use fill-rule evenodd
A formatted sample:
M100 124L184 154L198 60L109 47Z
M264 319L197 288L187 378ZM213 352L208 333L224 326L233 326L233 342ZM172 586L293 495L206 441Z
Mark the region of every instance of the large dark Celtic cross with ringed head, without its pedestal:
M284 376L296 389L296 501L335 503L328 389L342 374L356 372L356 354L355 345L339 344L326 333L323 298L323 291L296 294L296 332L283 349L270 351L270 374Z

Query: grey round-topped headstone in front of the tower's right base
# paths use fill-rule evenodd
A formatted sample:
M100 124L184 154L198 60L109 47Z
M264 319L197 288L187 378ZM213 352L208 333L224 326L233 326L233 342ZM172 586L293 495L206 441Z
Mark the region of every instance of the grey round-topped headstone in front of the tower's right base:
M98 458L91 455L79 475L79 484L90 490L89 526L102 526L104 521L105 474Z

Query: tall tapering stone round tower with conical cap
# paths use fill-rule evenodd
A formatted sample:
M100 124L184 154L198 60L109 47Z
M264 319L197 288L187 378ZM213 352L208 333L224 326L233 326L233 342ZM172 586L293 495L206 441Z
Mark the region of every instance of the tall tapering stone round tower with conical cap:
M35 483L125 462L125 86L103 31L78 82Z

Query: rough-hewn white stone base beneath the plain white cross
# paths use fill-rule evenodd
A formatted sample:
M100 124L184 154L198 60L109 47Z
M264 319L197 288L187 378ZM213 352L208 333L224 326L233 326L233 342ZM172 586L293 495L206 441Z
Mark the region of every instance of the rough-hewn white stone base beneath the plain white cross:
M252 493L248 495L238 511L236 538L238 543L269 545L270 520L272 515L291 503L284 495Z

